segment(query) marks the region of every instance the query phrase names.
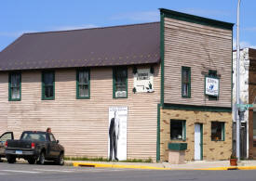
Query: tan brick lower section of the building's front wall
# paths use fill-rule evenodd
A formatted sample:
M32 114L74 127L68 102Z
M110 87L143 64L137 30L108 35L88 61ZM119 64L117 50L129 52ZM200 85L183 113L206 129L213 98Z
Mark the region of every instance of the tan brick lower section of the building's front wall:
M210 112L193 110L160 110L160 159L168 161L168 142L185 142L185 160L194 160L195 123L203 123L203 160L228 160L232 151L231 112ZM170 119L186 121L186 140L170 140ZM211 122L225 123L225 140L211 141Z

